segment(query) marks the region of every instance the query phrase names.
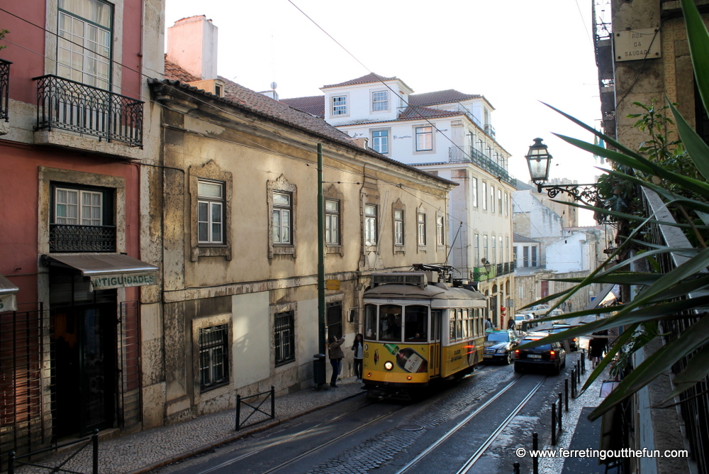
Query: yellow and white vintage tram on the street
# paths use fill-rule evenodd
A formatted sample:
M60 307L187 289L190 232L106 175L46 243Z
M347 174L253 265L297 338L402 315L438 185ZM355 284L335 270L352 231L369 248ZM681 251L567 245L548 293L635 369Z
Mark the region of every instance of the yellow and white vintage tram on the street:
M364 292L362 382L403 392L462 377L483 358L486 298L435 282L436 272L372 275Z

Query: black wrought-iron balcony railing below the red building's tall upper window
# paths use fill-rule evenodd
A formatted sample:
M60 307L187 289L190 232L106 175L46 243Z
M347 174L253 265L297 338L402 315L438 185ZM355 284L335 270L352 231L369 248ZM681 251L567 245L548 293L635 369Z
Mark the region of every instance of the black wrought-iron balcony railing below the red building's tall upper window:
M55 75L37 81L37 130L59 128L143 146L143 101Z

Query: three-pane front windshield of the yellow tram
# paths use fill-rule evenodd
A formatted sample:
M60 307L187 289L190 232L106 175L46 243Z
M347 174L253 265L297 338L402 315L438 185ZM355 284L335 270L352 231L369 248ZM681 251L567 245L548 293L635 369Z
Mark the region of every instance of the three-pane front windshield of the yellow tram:
M377 312L379 309L379 312ZM366 304L364 337L374 341L428 341L428 307L423 305Z

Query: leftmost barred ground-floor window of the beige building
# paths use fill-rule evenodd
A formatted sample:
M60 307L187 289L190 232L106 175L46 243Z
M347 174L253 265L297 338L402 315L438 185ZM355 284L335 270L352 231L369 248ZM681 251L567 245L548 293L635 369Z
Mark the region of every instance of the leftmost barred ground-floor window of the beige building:
M209 390L229 382L228 325L199 330L199 388Z

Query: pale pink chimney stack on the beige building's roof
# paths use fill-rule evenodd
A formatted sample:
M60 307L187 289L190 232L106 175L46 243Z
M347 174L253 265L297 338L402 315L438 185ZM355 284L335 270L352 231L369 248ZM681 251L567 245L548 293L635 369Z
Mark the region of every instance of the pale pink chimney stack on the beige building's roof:
M217 30L204 15L167 28L167 59L200 79L217 78Z

